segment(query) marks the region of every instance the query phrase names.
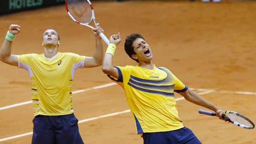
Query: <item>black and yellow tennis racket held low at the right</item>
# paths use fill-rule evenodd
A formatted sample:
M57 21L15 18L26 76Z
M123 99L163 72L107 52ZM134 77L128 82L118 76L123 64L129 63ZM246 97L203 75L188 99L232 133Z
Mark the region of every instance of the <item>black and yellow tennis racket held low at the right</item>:
M198 112L209 116L218 116L216 115L216 113L213 113L211 111L205 111L202 109L199 109ZM251 120L249 120L249 118L234 111L224 111L222 118L228 120L230 123L233 123L239 127L243 127L246 129L253 129L255 127L254 123Z

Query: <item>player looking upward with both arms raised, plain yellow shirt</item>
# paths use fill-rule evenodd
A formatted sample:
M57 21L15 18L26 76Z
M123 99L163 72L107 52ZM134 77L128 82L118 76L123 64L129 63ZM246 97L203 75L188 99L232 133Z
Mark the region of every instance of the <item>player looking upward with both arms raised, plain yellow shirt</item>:
M99 24L92 30L96 38L92 57L58 52L61 42L54 29L43 33L43 54L12 54L12 42L20 31L21 26L17 24L9 26L0 60L29 73L35 116L32 144L83 144L72 106L74 71L102 65L103 47L99 34L104 31Z

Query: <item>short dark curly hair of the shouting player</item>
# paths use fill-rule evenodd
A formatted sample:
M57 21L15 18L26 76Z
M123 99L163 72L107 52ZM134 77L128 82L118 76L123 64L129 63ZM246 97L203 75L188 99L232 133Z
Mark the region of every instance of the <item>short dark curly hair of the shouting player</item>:
M143 40L145 40L142 35L140 35L139 33L132 33L129 36L126 37L126 42L124 43L124 50L126 51L126 54L128 54L128 56L132 58L133 54L136 54L136 52L134 52L134 47L133 47L133 42L137 39L137 38L142 38ZM136 62L138 62L137 59L133 59Z

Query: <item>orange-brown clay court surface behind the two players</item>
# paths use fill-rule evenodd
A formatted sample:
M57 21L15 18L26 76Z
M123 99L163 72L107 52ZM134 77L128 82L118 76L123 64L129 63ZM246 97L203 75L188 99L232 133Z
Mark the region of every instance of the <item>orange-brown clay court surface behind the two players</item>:
M156 66L169 68L185 85L221 109L237 111L256 123L256 1L97 0L92 5L105 35L122 35L114 65L136 65L123 45L127 35L141 33L153 51ZM1 16L1 44L10 24L21 26L13 54L43 53L41 42L47 28L59 33L60 52L93 54L91 29L72 21L64 5ZM0 73L0 144L29 144L34 116L28 72L0 62ZM203 144L256 144L256 129L200 115L198 110L203 107L180 99L179 94L175 98L184 125ZM23 105L7 107L20 103ZM123 89L114 85L101 67L76 70L73 107L85 144L143 143L136 135Z

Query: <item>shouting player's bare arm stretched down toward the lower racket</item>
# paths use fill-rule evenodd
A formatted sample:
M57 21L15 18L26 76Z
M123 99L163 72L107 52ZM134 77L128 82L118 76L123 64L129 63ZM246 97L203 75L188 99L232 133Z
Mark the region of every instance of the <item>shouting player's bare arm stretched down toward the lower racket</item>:
M211 109L212 111L215 111L215 113L217 115L220 115L219 118L222 118L222 113L223 110L219 109L217 106L211 104L210 102L208 102L206 99L204 99L203 97L201 97L199 94L197 94L196 92L188 89L185 92L179 92L180 95L182 95L187 101L192 102L194 104L197 104L199 106L204 106L207 109Z

